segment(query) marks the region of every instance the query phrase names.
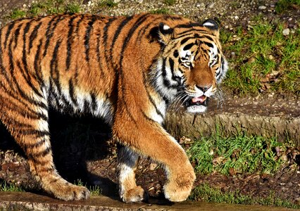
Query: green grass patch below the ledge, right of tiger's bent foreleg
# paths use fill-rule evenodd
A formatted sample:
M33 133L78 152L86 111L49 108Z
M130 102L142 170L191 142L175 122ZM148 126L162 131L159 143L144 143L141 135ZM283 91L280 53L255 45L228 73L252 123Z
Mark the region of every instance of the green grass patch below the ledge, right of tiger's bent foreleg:
M285 151L287 144L275 138L238 134L222 137L218 134L192 143L187 154L201 174L275 173L284 163L277 157L275 147Z

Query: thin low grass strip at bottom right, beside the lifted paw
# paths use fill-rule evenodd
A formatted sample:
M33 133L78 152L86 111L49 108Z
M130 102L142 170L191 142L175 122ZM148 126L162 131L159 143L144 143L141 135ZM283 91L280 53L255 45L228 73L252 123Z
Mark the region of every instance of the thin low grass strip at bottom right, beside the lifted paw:
M218 188L213 188L208 184L201 184L192 191L189 200L206 201L211 203L235 203L242 205L265 205L299 209L300 205L291 203L288 200L282 200L275 197L273 192L270 192L266 198L244 195L239 191L220 191Z

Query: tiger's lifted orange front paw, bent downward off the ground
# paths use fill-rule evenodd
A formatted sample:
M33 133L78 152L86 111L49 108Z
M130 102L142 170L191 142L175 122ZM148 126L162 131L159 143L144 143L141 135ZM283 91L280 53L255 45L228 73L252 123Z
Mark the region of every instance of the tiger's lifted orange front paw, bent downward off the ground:
M196 175L193 170L170 177L168 183L164 186L165 198L173 202L187 200L195 179Z

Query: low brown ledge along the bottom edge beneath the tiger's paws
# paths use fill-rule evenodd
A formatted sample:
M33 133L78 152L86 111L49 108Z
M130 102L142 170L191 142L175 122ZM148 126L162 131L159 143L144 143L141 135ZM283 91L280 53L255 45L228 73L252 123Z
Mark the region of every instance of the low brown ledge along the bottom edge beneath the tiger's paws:
M25 192L0 192L0 210L293 210L282 207L263 207L251 205L232 205L220 203L183 202L169 203L150 200L149 203L125 204L106 196L93 196L89 200L62 201L49 196Z

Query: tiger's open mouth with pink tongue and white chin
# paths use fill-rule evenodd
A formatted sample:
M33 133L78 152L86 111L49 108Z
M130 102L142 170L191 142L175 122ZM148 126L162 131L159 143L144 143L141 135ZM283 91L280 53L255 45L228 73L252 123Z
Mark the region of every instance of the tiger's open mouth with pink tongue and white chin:
M185 101L185 107L189 113L204 113L208 106L208 97L205 95L190 97Z

